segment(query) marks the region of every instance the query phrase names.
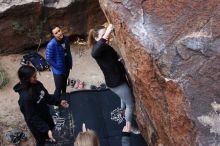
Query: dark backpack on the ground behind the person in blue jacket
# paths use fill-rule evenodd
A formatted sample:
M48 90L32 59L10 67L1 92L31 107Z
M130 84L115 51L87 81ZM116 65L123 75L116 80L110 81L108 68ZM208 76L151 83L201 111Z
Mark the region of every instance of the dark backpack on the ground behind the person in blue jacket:
M21 65L28 65L30 62L37 69L37 71L44 71L50 68L46 59L38 52L31 52L24 55L20 63Z

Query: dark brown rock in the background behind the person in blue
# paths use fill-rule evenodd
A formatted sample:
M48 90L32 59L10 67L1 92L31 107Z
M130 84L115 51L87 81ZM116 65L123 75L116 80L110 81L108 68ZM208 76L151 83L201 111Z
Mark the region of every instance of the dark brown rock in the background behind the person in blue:
M68 36L86 36L106 21L98 0L0 0L0 54L36 49L58 24Z

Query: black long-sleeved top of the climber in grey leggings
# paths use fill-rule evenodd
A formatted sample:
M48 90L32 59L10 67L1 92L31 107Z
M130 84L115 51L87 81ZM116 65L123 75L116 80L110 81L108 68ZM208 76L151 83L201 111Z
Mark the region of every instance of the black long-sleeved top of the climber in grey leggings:
M117 52L101 38L95 42L92 57L102 70L108 87L114 88L126 82L126 71L124 65L119 61Z

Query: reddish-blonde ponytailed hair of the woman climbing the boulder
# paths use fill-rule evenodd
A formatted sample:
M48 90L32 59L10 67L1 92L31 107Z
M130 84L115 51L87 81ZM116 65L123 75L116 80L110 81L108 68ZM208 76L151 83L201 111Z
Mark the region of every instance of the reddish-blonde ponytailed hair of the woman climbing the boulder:
M94 43L96 42L95 38L98 37L99 30L104 29L104 28L105 28L105 26L99 25L93 29L90 29L89 35L88 35L88 40L87 40L89 48L92 48Z

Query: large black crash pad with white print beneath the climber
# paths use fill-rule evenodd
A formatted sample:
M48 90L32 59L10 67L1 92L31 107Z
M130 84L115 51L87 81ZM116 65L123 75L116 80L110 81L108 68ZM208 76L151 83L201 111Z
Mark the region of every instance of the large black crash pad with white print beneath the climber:
M110 90L74 91L64 97L68 109L52 110L58 122L54 137L59 146L72 146L82 123L96 131L101 146L121 146L121 130L125 122L118 124L111 120L111 112L120 107L119 97ZM63 122L64 121L64 122ZM147 146L141 135L131 136L131 146Z

